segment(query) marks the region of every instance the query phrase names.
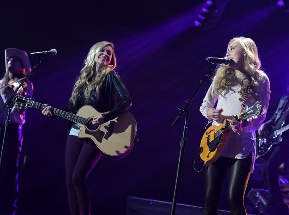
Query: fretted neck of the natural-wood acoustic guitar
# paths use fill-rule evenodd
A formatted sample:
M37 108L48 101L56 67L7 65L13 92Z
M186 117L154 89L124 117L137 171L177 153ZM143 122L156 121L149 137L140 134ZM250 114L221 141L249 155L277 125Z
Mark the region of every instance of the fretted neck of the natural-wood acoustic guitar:
M47 107L47 105L43 105L43 104L41 104L39 102L32 101L31 107L37 108L39 110L43 110L45 107ZM73 121L75 123L80 123L80 124L85 125L87 123L87 121L88 121L86 118L83 118L81 116L78 116L78 115L75 115L73 113L69 113L67 111L60 110L60 109L57 109L57 108L54 108L54 107L51 107L50 111L55 116L59 116L61 118Z

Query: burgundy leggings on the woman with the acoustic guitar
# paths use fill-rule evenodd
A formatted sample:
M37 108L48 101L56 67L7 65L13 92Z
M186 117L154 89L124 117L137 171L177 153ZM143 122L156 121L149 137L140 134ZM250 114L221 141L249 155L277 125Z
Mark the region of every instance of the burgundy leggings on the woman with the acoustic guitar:
M86 178L100 157L101 153L91 139L68 136L65 169L70 214L89 215L91 213Z

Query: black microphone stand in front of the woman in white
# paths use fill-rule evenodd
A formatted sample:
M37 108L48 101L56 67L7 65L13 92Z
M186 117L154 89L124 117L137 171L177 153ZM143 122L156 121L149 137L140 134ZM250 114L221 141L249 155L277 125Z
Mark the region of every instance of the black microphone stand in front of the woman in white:
M189 110L188 107L191 105L193 99L205 83L205 81L208 79L208 77L211 76L211 73L216 69L217 64L214 63L208 74L206 75L205 79L200 80L200 85L196 92L193 94L190 100L185 100L185 106L183 109L178 108L180 110L180 113L178 116L175 118L174 122L172 123L172 126L175 126L180 117L185 113L185 126L183 128L183 137L180 140L180 154L179 154L179 161L178 161L178 169L177 169L177 175L176 175L176 180L175 180L175 189L174 189L174 196L173 196L173 202L172 202L172 209L171 209L171 215L175 215L175 208L176 208L176 200L178 196L178 188L179 188L179 179L180 179L180 171L182 169L182 164L183 164L183 154L184 154L184 149L185 149L185 143L187 141L186 136L187 136L187 129L188 129L188 118L189 118Z

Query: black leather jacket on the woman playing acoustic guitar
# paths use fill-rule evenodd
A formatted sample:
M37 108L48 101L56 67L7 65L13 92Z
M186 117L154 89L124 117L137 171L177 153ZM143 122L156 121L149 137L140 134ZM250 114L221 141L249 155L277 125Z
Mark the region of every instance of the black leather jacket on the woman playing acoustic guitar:
M119 100L118 103L117 100ZM111 71L106 75L104 83L100 88L100 97L97 97L97 93L93 91L90 98L86 99L84 96L82 100L79 99L75 106L71 103L68 104L68 111L70 113L76 113L83 105L91 105L98 112L103 113L105 122L112 120L119 116L121 113L127 111L132 105L127 87L116 71Z

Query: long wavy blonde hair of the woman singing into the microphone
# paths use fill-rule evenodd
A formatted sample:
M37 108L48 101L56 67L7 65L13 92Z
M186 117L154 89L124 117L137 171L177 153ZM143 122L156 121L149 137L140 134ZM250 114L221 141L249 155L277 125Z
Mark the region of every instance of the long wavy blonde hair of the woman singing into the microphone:
M241 90L238 92L242 97L245 94L247 86L250 86L249 95L256 99L257 89L262 82L265 73L260 70L261 62L258 56L257 46L251 38L237 37L230 40L228 47L232 42L237 42L241 45L242 50L246 53L244 56L244 75L245 78L240 80L235 75L235 69L229 65L220 65L216 69L216 89L221 96L225 97L232 87L241 85Z

